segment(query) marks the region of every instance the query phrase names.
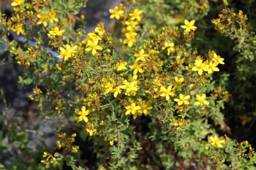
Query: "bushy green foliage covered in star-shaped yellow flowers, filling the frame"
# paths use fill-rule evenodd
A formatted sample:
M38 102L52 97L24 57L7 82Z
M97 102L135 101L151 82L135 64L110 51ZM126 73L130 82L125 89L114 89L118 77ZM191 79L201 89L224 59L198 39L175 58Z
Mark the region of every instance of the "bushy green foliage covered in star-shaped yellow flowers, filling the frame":
M254 149L227 136L221 112L230 101L230 74L221 70L227 59L218 49L201 54L197 46L207 39L199 23L208 0L129 0L110 10L115 25L107 30L99 23L90 33L78 15L85 4L15 0L15 14L0 21L6 51L24 67L19 83L35 85L30 99L42 119L53 120L59 138L55 150L29 149L26 130L15 128L24 120L12 122L5 111L4 135L21 143L15 147L22 159L43 155L41 163L17 161L7 169L254 169ZM226 0L217 6L219 17L207 22L235 44L235 77L242 84L256 75L256 37L242 11ZM9 42L4 35L12 31L35 45ZM247 85L234 90L237 99L253 95L244 92ZM247 100L237 107L244 109ZM89 150L96 167L85 159Z

